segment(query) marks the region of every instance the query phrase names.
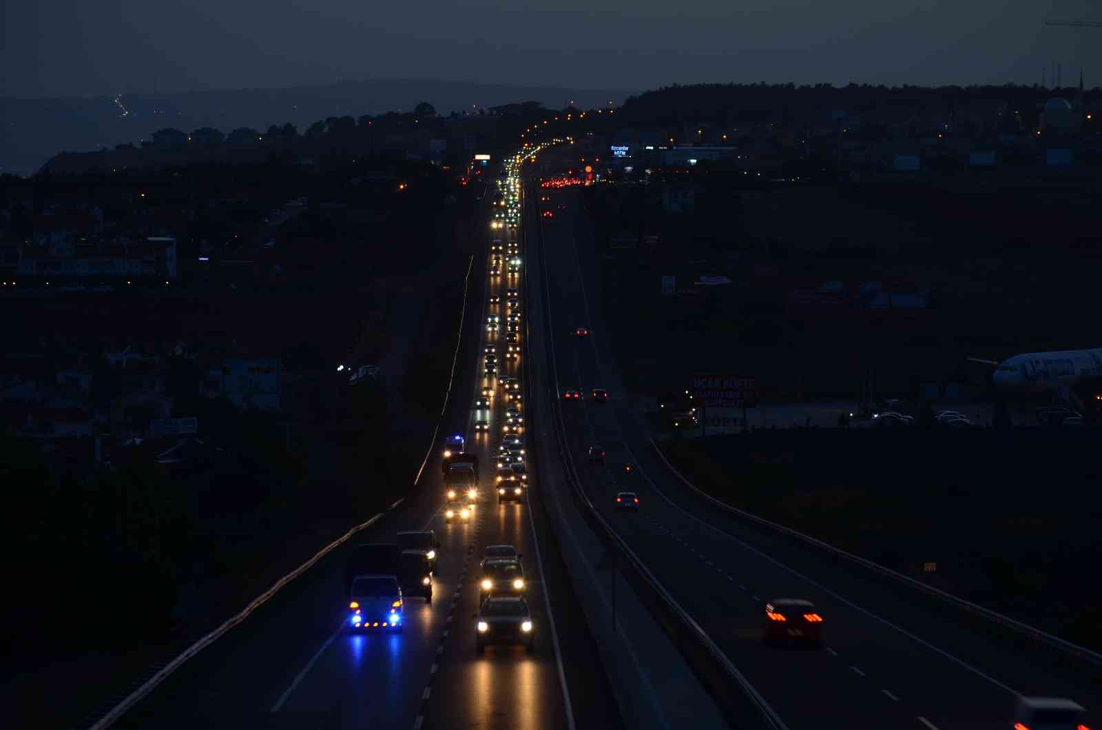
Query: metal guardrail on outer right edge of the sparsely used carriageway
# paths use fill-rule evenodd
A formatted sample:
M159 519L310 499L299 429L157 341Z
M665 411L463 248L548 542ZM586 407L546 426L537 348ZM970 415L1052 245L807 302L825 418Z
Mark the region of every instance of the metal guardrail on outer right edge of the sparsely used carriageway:
M836 556L839 558L844 558L845 560L849 560L855 565L872 570L873 572L876 572L886 578L890 578L892 580L895 580L897 582L904 583L909 588L917 589L928 595L932 595L941 601L944 601L959 609L968 611L969 613L980 616L986 621L992 621L1005 629L1014 631L1015 633L1033 638L1034 641L1041 642L1061 652L1071 654L1077 658L1090 662L1098 666L1102 666L1102 654L1089 650L1085 646L1080 646L1067 640L1060 638L1059 636L1054 636L1052 634L1044 632L1040 629L1036 629L1034 626L1030 626L1029 624L1023 623L1015 619L1011 619L1009 616L1005 616L1002 613L998 613L997 611L992 611L991 609L984 608L976 603L972 603L971 601L966 601L960 597L953 595L952 593L943 591L939 588L934 588L933 586L927 586L920 580L915 580L914 578L905 576L895 570L892 570L890 568L885 568L884 566L878 565L867 558L862 558L858 555L854 555L852 552L847 552L845 550L836 548L830 543L824 543L823 540L820 540L815 537L811 537L810 535L804 535L803 533L795 530L791 527L786 527L785 525L781 525L779 523L766 519L765 517L759 517L758 515L746 512L745 509L739 509L738 507L732 506L725 502L716 500L711 494L707 494L706 492L698 487L695 484L690 482L688 479L685 479L685 476L681 472L679 472L673 466L673 464L670 463L670 461L666 458L666 454L663 454L662 450L658 448L658 443L656 443L653 439L649 439L649 441L650 445L653 447L655 452L658 453L658 458L661 459L662 463L666 464L666 468L669 469L670 472L672 472L679 480L681 480L685 484L685 486L695 492L699 496L703 497L704 500L709 501L711 504L720 507L721 509L732 513L737 517L748 519L755 524L768 527L769 529L776 530L788 537L795 538L806 545L810 545L812 547L827 550L833 556Z

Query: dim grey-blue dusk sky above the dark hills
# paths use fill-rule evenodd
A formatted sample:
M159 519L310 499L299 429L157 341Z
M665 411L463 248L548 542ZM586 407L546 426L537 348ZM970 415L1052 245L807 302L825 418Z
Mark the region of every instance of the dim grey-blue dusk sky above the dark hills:
M696 82L1102 84L1090 0L3 0L18 97L435 78L644 89Z

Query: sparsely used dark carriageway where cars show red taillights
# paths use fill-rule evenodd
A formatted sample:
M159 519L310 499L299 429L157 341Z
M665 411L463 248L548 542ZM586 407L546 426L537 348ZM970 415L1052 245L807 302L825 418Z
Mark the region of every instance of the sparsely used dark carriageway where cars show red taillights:
M550 200L539 202L540 195ZM530 236L539 250L530 255L529 273L540 277L548 292L549 369L560 398L566 388L583 395L562 404L583 486L788 728L1009 728L1018 694L1068 697L1091 709L1099 684L1085 667L1056 664L973 631L952 610L929 610L906 589L719 513L687 489L659 460L627 405L601 312L601 253L579 211L579 193L533 186L529 197L533 205L526 215L540 226L540 235ZM536 204L554 217L541 217ZM619 256L629 266L634 253ZM582 325L588 337L575 336ZM646 322L635 333L662 346L661 333ZM590 401L593 387L609 391L607 404ZM607 450L606 465L588 463L594 444ZM623 473L625 463L636 466L634 474ZM615 512L619 489L640 494L639 514ZM814 602L824 618L822 650L763 645L764 605L782 597Z

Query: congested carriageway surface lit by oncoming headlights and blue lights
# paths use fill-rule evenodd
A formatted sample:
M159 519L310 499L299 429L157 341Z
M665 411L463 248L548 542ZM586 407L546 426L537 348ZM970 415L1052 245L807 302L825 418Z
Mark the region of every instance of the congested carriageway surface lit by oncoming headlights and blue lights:
M490 181L493 189L493 181ZM240 625L186 662L131 708L118 728L619 728L615 696L561 559L538 508L538 464L529 462L529 500L498 507L489 461L506 407L500 389L488 414L489 436L475 436L476 393L491 384L480 364L487 298L520 286L490 278L489 234L479 237L467 290L457 367L437 442L411 498L334 549L258 608ZM505 238L505 230L494 232ZM508 232L512 238L516 229ZM463 276L464 271L456 271ZM456 311L458 322L460 312ZM503 316L503 322L504 322ZM499 356L503 362L504 355ZM508 364L510 374L523 356ZM442 440L467 438L478 454L482 490L476 517L443 518ZM425 434L428 448L429 434ZM496 453L496 451L495 451ZM370 480L370 475L365 475ZM349 519L349 526L354 523ZM352 546L390 541L403 529L433 529L441 543L433 601L407 599L401 634L346 630L344 563ZM511 544L522 554L537 648L474 650L474 580L482 547ZM307 556L303 556L305 559ZM230 613L233 606L227 609ZM236 609L233 609L236 610ZM558 631L557 631L558 630ZM569 699L568 699L569 698Z

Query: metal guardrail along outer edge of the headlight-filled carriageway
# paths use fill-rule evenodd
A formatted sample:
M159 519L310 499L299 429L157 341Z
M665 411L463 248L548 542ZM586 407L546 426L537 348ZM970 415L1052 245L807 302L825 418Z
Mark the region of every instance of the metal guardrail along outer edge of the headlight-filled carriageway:
M429 442L429 449L425 451L424 459L421 461L421 466L418 469L417 475L413 477L413 484L414 485L421 480L421 474L422 474L422 472L424 472L425 464L429 463L429 459L432 457L432 451L433 451L433 449L435 448L435 444L436 444L436 434L440 432L440 423L443 421L443 419L444 419L444 412L447 410L447 402L449 402L449 399L451 398L451 394L452 394L452 385L455 382L455 365L458 362L460 348L461 348L461 346L463 344L463 323L465 321L466 311L467 311L467 289L469 287L469 281L471 281L471 271L474 268L474 260L475 260L475 257L472 256L469 264L467 264L466 276L464 277L464 280L463 280L463 308L462 308L462 310L460 312L460 326L458 326L458 333L456 334L455 355L452 358L452 372L451 372L451 374L449 375L449 378L447 378L447 389L444 391L444 405L441 406L440 417L436 419L436 426L433 428L432 439ZM287 586L292 580L294 580L295 578L298 578L299 576L301 576L302 573L304 573L306 570L309 570L310 568L312 568L314 566L314 563L316 563L318 560L321 560L326 555L328 555L329 552L332 552L335 548L337 548L341 545L343 545L344 543L346 543L348 540L348 538L350 538L353 535L355 535L356 533L359 533L363 529L366 529L367 527L370 527L371 525L374 525L375 523L377 523L379 519L381 519L386 515L388 515L391 512L393 512L395 509L397 509L398 506L401 505L404 502L406 502L406 497L398 498L389 507L387 507L382 512L376 514L375 516L372 516L367 522L360 523L359 525L356 525L355 527L353 527L352 529L349 529L347 533L345 533L344 535L342 535L341 537L338 537L337 539L335 539L334 541L329 543L328 545L326 545L325 547L323 547L321 550L318 550L317 552L315 552L314 557L310 558L309 560L306 560L305 562L303 562L298 568L295 568L294 570L292 570L288 575L285 575L282 578L280 578L278 581L276 581L276 583L272 584L271 588L269 588L267 591L264 591L263 593L261 593L260 595L258 595L256 599L253 599L248 605L246 605L237 614L235 614L231 618L227 619L217 629L215 629L214 631L209 632L208 634L206 634L205 636L203 636L202 638L199 638L198 641L196 641L194 644L192 644L191 646L188 646L187 648L185 648L183 652L181 652L180 654L177 654L175 657L173 657L163 667L161 667L160 669L158 669L156 672L154 672L153 675L149 679L147 679L145 681L143 681L141 685L139 685L139 687L137 689L134 689L129 695L127 695L126 697L123 697L122 700L119 701L117 705L115 705L110 710L108 710L106 715L104 715L98 720L96 720L90 726L88 726L88 730L106 730L107 728L109 728L112 724L115 724L115 722L118 721L119 718L121 718L123 715L127 713L127 711L130 710L130 708L132 708L134 705L137 705L139 701L141 701L142 698L144 698L147 695L149 695L151 691L153 691L158 687L158 685L160 685L165 679L168 679L170 676L172 676L172 674L176 669L179 669L181 666L183 666L183 664L185 662L187 662L187 659L192 658L193 656L195 656L196 654L198 654L199 652L202 652L203 650L205 650L207 646L209 646L210 644L215 643L227 631L229 631L234 626L238 625L239 623L241 623L242 621L245 621L246 619L248 619L249 614L251 614L258 608L260 608L261 605L263 605L264 603L267 603L284 586Z

